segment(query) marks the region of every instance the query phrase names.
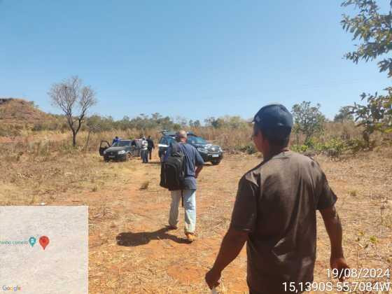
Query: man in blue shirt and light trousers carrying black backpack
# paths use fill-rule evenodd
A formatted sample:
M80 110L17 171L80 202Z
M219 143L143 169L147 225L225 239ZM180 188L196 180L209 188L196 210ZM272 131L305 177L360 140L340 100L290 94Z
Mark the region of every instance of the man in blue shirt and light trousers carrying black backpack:
M196 226L196 179L202 171L204 161L199 151L186 143L187 134L181 130L165 154L162 162L162 187L172 192L169 213L169 228L177 229L180 201L185 208L185 235L191 243L195 239Z

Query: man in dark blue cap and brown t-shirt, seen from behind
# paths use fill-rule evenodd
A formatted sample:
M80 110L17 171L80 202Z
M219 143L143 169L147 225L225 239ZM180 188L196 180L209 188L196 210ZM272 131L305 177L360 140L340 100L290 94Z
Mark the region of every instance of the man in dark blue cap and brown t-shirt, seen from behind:
M246 243L250 293L302 293L313 281L316 210L330 237L330 267L347 268L342 225L321 167L288 150L293 116L280 104L262 107L253 120L253 142L263 161L239 181L230 228L212 269L209 288Z

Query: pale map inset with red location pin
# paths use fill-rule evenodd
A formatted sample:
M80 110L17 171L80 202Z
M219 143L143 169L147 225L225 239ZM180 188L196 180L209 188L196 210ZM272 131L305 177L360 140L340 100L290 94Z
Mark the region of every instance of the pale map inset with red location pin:
M88 293L88 207L0 207L0 292Z

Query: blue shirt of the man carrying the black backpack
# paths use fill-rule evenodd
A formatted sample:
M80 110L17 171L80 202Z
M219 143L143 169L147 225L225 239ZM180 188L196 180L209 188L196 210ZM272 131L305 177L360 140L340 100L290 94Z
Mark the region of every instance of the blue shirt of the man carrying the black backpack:
M185 155L184 160L184 169L185 169L185 179L184 179L184 190L196 190L196 178L195 171L196 167L200 165L204 165L204 160L200 155L199 151L195 147L187 143L179 143L181 151L183 151ZM170 144L169 148L167 148L165 158L166 160L169 157L169 154L172 153L172 144Z

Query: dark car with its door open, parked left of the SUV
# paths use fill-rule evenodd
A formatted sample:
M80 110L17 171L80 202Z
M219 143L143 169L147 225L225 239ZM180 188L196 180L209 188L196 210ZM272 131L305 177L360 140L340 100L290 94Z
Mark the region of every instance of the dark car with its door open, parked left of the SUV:
M99 155L103 156L105 161L130 160L133 150L132 140L120 140L113 145L110 145L108 141L101 141L99 144Z

